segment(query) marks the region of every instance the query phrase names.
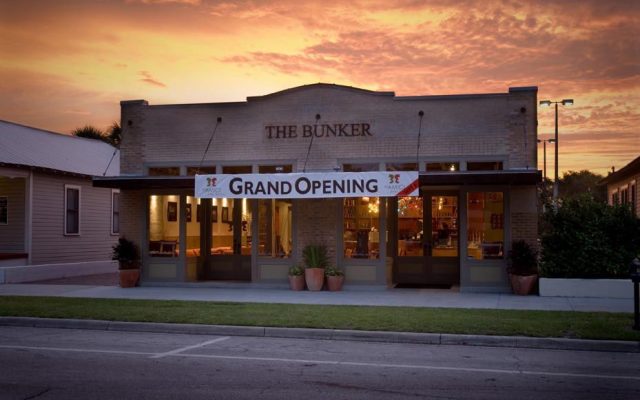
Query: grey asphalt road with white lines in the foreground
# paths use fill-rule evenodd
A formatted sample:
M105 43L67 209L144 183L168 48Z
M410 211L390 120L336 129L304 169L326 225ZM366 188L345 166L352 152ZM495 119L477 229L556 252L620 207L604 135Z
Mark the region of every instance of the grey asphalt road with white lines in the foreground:
M0 327L0 399L640 399L640 354Z

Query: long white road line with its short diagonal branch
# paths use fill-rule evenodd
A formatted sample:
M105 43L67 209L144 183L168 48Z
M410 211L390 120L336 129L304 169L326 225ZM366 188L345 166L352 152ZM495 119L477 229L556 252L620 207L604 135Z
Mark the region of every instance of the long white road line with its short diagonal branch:
M270 362L286 362L286 363L298 363L298 364L320 364L320 365L345 365L354 367L372 367L372 368L405 368L405 369L420 369L431 371L452 371L452 372L480 372L480 373L495 373L506 375L536 375L536 376L557 376L557 377L569 377L569 378L596 378L596 379L620 379L620 380L632 380L640 381L640 376L625 376L625 375L601 375L601 374L579 374L571 372L551 372L551 371L527 371L527 370L506 370L506 369L490 369L490 368L464 368L464 367L438 367L435 365L416 365L416 364L386 364L386 363L365 363L365 362L351 362L351 361L327 361L327 360L305 360L296 358L275 358L275 357L247 357L247 356L219 356L209 354L183 354L189 349L194 349L207 344L221 342L229 339L228 336L209 340L193 346L187 346L180 349L172 350L166 353L153 353L153 352L141 352L141 351L123 351L123 350L99 350L99 349L73 349L64 347L35 347L35 346L10 346L0 345L0 349L18 349L18 350L48 350L48 351L67 351L76 353L104 353L104 354L125 354L125 355L143 355L152 356L151 358L160 357L192 357L192 358L209 358L209 359L221 359L221 360L240 360L240 361L270 361Z

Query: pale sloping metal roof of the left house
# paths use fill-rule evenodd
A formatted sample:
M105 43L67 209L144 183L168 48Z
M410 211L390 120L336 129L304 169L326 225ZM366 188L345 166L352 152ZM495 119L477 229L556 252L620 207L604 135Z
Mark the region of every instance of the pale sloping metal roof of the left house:
M120 175L120 151L99 140L0 120L2 164L80 175L116 176Z

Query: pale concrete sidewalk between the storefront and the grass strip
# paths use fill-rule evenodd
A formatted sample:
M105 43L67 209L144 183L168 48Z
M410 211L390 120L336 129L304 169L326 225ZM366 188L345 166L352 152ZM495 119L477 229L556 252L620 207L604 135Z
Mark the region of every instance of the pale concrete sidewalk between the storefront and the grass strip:
M0 296L56 296L109 299L226 301L286 304L333 304L392 307L481 308L499 310L633 312L633 300L586 297L539 297L513 294L460 293L444 289L346 288L341 292L294 292L252 284L136 287L4 284Z

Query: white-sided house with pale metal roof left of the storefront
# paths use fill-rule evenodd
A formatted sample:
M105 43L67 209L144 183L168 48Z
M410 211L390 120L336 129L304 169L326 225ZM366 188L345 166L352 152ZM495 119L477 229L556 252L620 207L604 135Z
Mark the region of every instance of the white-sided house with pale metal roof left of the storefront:
M119 192L91 178L119 172L107 143L0 120L0 266L112 264Z

